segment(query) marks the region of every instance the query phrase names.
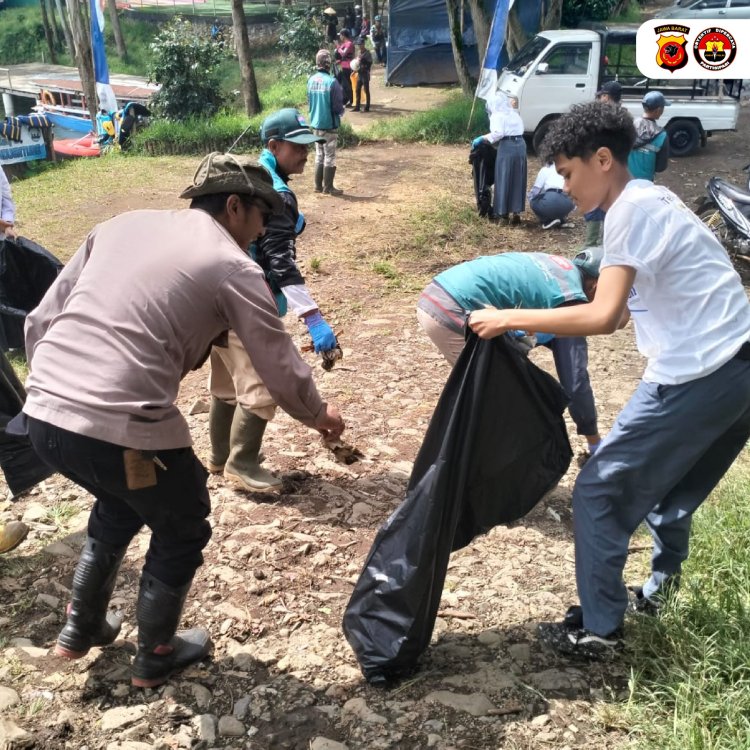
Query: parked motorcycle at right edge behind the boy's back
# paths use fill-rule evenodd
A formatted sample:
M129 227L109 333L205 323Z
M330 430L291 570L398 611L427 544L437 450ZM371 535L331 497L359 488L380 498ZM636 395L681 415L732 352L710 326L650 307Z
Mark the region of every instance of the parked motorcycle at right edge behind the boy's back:
M745 189L712 177L706 185L706 197L696 209L698 218L713 232L733 260L750 253L750 164Z

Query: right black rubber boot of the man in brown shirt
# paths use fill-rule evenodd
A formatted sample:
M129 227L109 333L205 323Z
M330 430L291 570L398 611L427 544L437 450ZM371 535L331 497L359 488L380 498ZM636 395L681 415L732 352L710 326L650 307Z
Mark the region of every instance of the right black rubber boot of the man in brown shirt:
M207 630L192 628L177 633L192 583L190 580L182 586L167 586L149 573L142 574L136 608L138 651L131 678L134 687L161 685L175 672L205 659L211 651Z

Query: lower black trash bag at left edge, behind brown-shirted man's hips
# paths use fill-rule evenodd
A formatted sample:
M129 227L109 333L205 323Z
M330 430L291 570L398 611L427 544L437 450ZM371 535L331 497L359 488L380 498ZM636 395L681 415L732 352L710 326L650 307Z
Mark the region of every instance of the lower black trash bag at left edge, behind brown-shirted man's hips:
M0 352L0 468L13 495L20 495L53 471L24 437L8 435L5 428L23 408L26 391L6 356Z

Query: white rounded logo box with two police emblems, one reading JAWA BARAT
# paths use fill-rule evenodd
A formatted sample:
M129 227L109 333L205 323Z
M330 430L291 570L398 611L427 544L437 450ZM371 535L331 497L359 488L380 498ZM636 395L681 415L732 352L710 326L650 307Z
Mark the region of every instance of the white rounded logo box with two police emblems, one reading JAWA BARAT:
M635 51L648 78L750 78L750 19L654 18L638 29Z

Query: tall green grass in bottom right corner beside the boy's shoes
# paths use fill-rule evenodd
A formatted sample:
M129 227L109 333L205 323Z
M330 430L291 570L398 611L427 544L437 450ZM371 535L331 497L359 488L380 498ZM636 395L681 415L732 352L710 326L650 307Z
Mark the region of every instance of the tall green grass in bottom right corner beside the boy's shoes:
M634 747L750 747L749 486L744 456L695 515L679 594L629 629L631 695L614 723Z

